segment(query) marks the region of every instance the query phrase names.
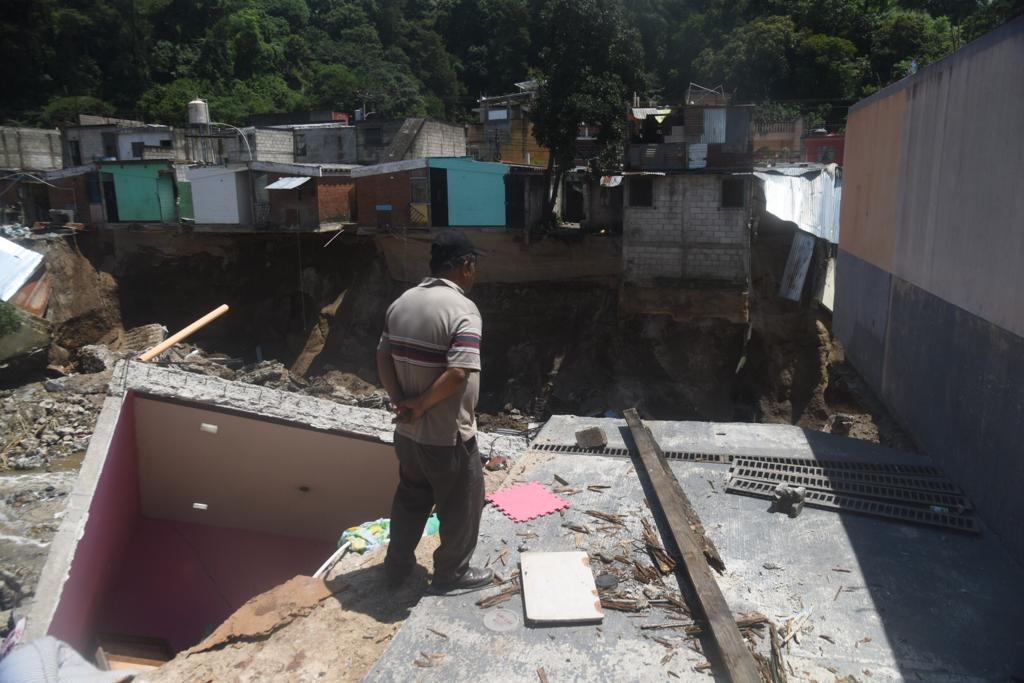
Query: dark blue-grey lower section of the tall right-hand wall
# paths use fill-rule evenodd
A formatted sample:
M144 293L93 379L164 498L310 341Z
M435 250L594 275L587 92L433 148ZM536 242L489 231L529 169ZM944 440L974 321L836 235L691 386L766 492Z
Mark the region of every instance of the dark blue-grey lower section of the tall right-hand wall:
M847 252L837 273L847 357L1024 561L1024 338Z

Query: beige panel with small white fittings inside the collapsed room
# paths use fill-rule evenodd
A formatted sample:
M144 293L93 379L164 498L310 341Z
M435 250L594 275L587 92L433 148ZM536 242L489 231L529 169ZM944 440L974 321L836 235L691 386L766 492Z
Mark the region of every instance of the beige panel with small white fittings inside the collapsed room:
M146 517L334 542L348 526L388 516L398 477L388 443L134 400ZM203 423L217 433L201 431Z

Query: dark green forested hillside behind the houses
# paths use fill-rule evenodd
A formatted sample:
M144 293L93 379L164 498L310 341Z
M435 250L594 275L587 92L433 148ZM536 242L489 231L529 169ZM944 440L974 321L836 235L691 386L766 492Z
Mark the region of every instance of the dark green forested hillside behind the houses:
M307 109L462 120L483 93L614 49L615 84L679 100L690 81L738 100L842 118L851 101L941 58L1024 0L5 0L0 120L78 112L229 123ZM602 15L601 31L586 17ZM565 17L573 25L559 26ZM583 18L581 18L583 17ZM567 55L578 52L568 59ZM557 62L557 63L555 63Z

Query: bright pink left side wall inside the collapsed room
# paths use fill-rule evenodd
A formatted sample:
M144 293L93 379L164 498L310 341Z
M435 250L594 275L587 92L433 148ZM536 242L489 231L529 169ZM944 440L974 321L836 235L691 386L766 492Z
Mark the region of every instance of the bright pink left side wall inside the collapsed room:
M48 633L86 652L100 601L139 518L135 414L129 393L106 452L85 532L78 543Z

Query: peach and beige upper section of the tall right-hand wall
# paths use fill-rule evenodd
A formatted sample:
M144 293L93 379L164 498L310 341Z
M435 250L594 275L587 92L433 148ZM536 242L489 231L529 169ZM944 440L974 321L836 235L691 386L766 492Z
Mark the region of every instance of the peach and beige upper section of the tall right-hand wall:
M1024 336L1024 19L851 111L840 247Z

